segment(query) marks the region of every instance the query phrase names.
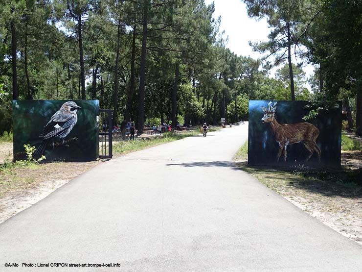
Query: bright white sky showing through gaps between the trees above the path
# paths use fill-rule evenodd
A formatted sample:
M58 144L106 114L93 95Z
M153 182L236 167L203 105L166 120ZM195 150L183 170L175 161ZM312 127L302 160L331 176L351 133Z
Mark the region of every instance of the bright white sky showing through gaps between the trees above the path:
M205 4L215 3L214 17L221 16L220 30L225 30L225 37L228 36L226 47L237 55L250 56L252 58L261 57L262 54L254 52L249 46L252 43L268 41L271 28L268 27L267 19L256 20L249 18L247 6L241 0L205 0ZM292 60L296 63L296 60ZM274 77L275 71L281 66L271 70ZM313 74L313 66L303 67L304 72L309 77ZM308 89L310 87L306 85Z

